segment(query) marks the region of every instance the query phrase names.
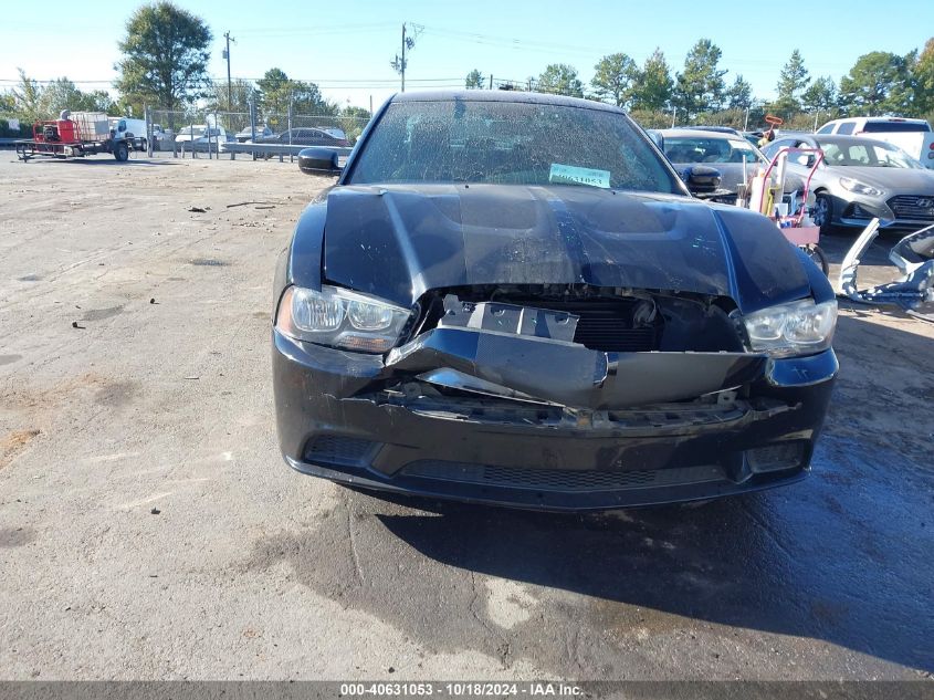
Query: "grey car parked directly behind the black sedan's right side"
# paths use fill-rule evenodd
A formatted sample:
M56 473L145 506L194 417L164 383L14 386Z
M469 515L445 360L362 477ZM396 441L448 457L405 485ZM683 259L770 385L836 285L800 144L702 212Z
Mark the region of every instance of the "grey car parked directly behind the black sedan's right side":
M724 191L722 199L733 203L741 185L748 180L758 166L768 165L758 148L734 130L669 128L658 129L655 133L660 136L661 149L679 174L694 165L705 165L718 170L720 188Z

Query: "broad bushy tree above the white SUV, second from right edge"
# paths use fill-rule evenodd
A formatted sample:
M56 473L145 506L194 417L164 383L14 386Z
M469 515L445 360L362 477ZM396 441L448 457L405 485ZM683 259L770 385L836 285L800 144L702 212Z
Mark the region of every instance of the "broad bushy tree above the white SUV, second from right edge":
M907 59L913 58L888 51L861 55L840 79L841 107L867 116L911 113L913 91Z

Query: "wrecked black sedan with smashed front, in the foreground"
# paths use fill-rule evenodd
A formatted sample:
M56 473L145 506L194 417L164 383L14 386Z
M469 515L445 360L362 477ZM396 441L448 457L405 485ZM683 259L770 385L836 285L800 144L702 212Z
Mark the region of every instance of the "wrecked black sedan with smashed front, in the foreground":
M537 509L802 478L833 292L766 218L691 197L620 109L391 98L276 272L279 439L365 489Z

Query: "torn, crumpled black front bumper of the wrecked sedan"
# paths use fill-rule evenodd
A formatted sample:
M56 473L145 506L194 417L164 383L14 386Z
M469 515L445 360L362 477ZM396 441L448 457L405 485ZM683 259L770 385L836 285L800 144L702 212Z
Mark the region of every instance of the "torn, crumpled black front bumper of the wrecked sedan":
M293 468L363 488L546 510L710 499L806 472L832 349L606 353L439 327L385 358L273 331Z

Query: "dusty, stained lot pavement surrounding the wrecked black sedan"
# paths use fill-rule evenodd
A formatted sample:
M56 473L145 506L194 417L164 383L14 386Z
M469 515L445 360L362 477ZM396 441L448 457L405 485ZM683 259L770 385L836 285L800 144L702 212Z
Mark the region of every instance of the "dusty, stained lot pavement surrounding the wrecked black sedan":
M0 676L931 677L934 324L843 304L814 473L784 490L381 501L275 442L273 263L325 185L0 153Z

